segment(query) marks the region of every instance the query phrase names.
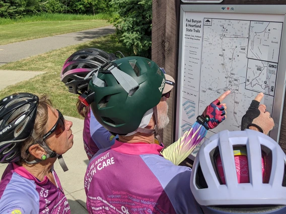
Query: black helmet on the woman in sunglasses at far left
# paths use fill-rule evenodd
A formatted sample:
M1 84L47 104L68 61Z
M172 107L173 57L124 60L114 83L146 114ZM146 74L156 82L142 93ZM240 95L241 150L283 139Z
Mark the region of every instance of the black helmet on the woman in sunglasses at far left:
M16 93L0 100L0 163L20 160L20 146L32 133L39 97Z

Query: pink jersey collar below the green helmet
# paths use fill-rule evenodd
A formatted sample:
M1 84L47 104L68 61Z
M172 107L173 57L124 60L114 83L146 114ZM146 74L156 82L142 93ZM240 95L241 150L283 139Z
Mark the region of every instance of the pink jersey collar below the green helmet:
M160 152L164 146L158 144L149 144L144 142L138 143L121 143L118 140L115 140L114 145L111 146L111 149L129 155L145 155L145 154L155 154L161 155Z

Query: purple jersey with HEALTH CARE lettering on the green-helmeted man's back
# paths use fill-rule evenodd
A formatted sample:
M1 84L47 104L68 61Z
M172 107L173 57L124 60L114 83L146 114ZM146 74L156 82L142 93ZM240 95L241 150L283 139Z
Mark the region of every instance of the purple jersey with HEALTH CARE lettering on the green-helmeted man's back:
M121 143L101 149L85 175L89 213L199 213L191 169L175 166L162 146Z

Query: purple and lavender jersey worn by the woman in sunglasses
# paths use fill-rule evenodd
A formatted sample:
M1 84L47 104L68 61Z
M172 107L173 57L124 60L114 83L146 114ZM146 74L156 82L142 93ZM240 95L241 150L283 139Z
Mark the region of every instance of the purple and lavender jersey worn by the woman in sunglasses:
M0 182L0 213L70 213L59 179L39 181L24 167L10 163Z

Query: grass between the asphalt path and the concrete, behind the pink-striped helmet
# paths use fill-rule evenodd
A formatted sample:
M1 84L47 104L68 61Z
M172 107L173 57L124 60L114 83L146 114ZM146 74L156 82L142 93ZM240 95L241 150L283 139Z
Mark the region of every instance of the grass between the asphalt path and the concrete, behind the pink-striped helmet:
M0 69L46 71L46 73L0 90L0 98L16 92L46 93L50 96L54 107L60 110L63 115L81 118L76 110L78 95L67 91L64 84L60 81L59 75L62 65L68 56L83 48L91 47L113 53L119 50L125 56L127 55L125 47L121 44L116 44L112 39L112 35L108 35L79 45L53 50L28 59L8 63L0 66Z

